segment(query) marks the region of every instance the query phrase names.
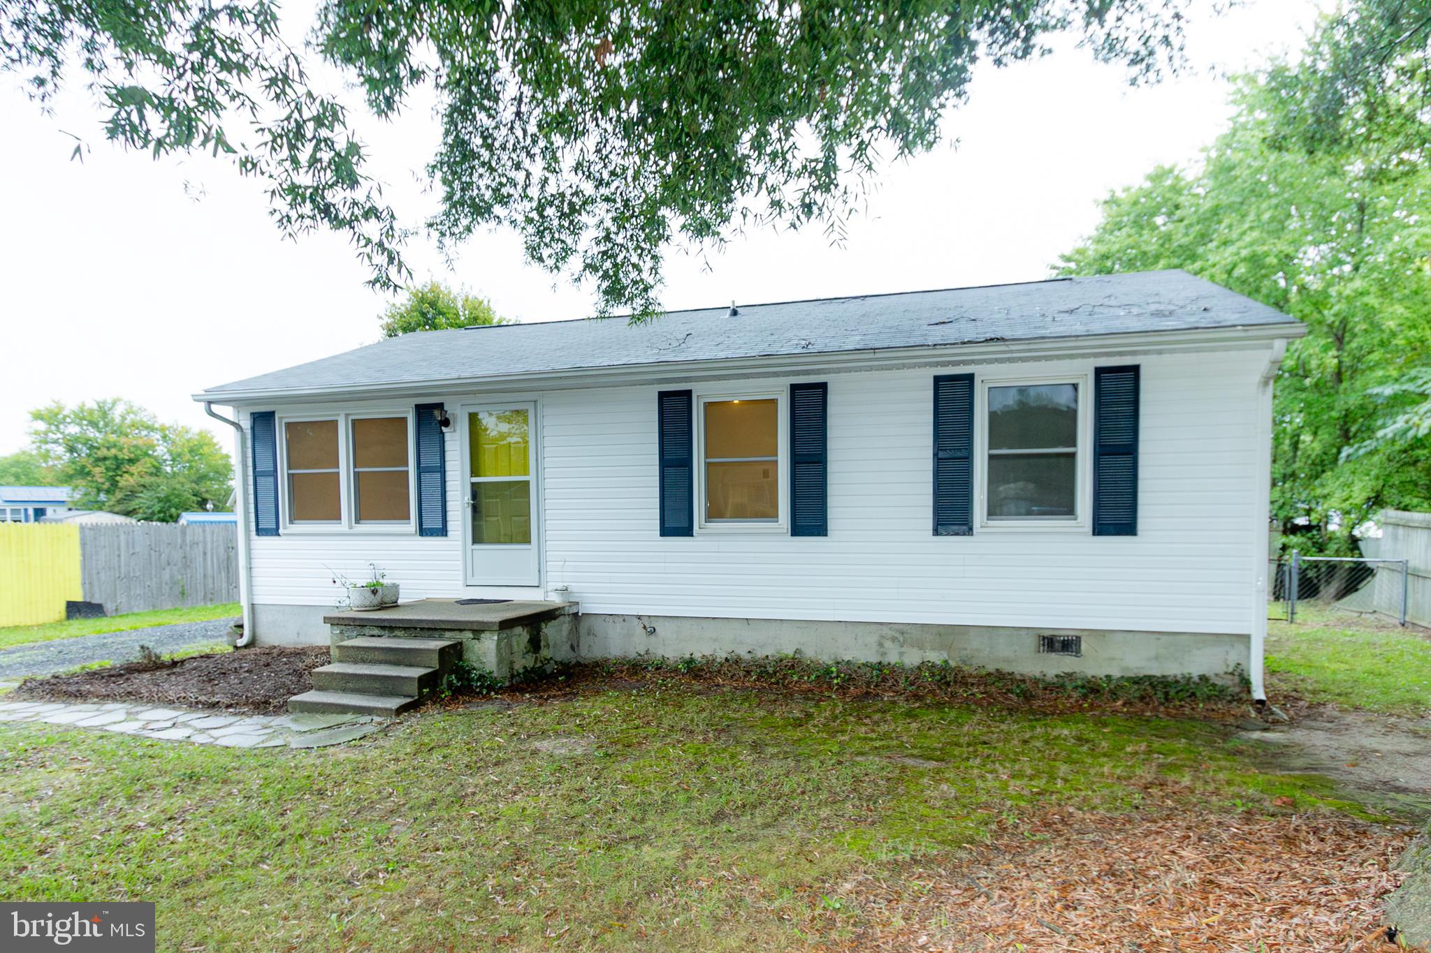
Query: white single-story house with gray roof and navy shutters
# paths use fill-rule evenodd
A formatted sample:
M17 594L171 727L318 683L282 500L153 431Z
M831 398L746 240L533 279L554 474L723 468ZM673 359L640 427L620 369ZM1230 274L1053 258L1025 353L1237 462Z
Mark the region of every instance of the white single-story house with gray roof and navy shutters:
M1261 697L1302 333L1155 271L428 331L196 399L246 429L260 643L328 640L333 574L376 563L580 602L585 657L1241 667Z

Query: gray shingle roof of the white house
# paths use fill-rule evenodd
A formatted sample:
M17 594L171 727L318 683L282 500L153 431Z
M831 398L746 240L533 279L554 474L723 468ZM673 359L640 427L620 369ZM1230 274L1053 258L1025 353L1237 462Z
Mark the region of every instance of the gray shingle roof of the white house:
M1026 284L737 304L607 320L425 331L210 387L200 397L402 386L512 374L1032 341L1090 334L1299 323L1186 271L1139 271Z

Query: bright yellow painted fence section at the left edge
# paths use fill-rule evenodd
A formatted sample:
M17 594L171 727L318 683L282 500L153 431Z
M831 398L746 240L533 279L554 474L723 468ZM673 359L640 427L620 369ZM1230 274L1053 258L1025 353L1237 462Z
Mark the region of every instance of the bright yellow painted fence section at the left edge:
M80 599L80 527L0 523L0 626L64 619Z

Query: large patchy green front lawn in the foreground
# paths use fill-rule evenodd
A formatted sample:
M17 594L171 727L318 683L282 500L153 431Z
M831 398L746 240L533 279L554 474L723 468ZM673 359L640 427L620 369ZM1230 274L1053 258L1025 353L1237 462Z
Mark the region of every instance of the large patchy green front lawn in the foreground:
M663 683L312 752L0 724L0 882L11 902L155 900L163 950L840 946L903 929L851 884L919 900L910 864L943 870L996 833L1036 843L1050 810L1119 826L1357 813L1318 779L1258 773L1226 737Z

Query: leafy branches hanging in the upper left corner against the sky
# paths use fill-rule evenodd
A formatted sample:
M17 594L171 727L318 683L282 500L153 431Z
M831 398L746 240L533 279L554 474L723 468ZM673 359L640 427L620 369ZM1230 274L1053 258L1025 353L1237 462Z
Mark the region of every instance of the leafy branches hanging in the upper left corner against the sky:
M286 237L346 231L372 269L369 284L395 290L409 277L401 254L408 230L362 171L343 106L311 87L272 0L0 0L0 69L27 76L41 103L66 71L86 74L112 141L155 159L226 156L269 183Z

